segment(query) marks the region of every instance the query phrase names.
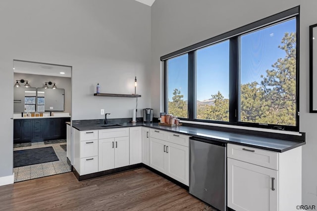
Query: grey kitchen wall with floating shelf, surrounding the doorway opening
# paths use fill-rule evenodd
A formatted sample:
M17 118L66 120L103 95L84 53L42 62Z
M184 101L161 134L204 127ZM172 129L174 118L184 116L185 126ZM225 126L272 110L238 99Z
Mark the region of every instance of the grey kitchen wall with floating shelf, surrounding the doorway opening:
M132 117L136 99L94 97L134 93L138 116L151 107L151 7L134 0L0 1L0 177L12 175L13 59L72 66L72 119Z

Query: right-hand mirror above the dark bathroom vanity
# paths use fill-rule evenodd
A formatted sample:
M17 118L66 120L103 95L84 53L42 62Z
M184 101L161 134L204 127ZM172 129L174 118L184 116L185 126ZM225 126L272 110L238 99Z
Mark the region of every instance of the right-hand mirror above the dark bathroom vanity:
M64 111L64 89L37 88L37 111Z

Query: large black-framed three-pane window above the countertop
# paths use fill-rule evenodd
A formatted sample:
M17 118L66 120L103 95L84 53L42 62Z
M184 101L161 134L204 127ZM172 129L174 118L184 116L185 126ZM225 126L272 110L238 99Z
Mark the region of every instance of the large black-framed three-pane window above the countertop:
M165 112L299 130L299 6L161 57Z

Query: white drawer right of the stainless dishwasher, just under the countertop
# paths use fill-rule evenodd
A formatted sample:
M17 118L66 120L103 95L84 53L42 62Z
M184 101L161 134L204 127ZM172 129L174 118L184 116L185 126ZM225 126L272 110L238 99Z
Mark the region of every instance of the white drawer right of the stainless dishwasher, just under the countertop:
M227 144L227 157L278 170L278 153Z

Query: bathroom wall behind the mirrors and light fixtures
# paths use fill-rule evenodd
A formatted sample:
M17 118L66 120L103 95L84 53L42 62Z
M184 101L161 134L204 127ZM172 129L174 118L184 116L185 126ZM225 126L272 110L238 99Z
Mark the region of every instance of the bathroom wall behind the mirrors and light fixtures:
M71 114L71 78L48 76L48 75L13 73L14 81L21 80L21 79L28 80L28 83L30 84L30 86L34 88L43 88L43 86L45 85L44 82L51 81L56 83L56 87L58 89L64 89L64 111L61 111L59 113ZM20 85L23 86L23 84L21 83ZM52 88L53 85L48 84L48 86L49 88Z

